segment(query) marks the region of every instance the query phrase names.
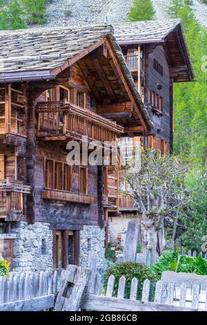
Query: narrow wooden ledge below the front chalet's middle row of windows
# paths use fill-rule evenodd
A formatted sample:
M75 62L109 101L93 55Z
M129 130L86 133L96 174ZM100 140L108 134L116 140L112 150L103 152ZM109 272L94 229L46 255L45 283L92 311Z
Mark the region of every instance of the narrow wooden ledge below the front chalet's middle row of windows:
M43 189L42 198L46 200L58 200L82 204L95 204L97 199L87 194L76 194L72 192L61 191L59 189Z

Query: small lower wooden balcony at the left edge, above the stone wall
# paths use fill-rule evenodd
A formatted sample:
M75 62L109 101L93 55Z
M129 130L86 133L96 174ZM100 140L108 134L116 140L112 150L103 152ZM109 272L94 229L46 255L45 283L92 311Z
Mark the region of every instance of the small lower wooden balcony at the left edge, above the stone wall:
M23 185L19 180L0 180L0 219L7 221L10 217L15 219L23 215L24 195L30 192L30 186Z

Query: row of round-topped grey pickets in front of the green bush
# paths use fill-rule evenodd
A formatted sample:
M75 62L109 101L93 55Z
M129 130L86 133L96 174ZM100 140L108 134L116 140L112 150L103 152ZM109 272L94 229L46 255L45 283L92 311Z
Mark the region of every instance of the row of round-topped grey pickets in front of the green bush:
M148 279L144 281L141 301L148 303L150 301L150 289L154 284L151 284ZM108 278L108 284L106 289L106 297L114 297L115 288L115 276L111 275ZM136 278L132 279L130 284L130 300L137 300L139 284ZM117 298L124 299L126 297L126 278L121 277L119 279L119 288L117 291ZM112 302L112 301L111 301ZM115 301L117 304L117 301ZM189 286L188 281L183 283L175 282L163 282L158 281L155 286L154 304L161 304L157 307L158 310L190 310L191 308L196 310L207 310L207 283L204 287L204 282L195 281L192 286ZM130 303L126 299L126 306ZM165 306L164 306L165 305ZM169 306L170 305L170 306ZM160 309L159 309L160 308Z

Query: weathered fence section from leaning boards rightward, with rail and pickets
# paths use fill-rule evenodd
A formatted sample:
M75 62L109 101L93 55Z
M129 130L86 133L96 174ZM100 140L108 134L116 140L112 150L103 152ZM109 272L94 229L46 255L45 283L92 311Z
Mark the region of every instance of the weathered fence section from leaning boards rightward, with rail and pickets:
M197 311L199 310L199 284L193 285L192 301L186 306L186 284L179 288L179 299L175 299L175 284L158 281L155 288L154 301L150 301L150 281L146 279L143 284L141 300L137 300L138 280L132 279L130 285L130 298L125 298L126 278L119 279L117 296L114 297L115 276L108 278L105 295L88 290L88 281L91 270L69 266L66 281L63 281L57 296L55 310L75 311L79 308L94 311ZM99 286L100 288L100 286ZM166 294L166 296L164 295ZM207 288L204 308L207 310ZM61 301L61 304L59 303Z

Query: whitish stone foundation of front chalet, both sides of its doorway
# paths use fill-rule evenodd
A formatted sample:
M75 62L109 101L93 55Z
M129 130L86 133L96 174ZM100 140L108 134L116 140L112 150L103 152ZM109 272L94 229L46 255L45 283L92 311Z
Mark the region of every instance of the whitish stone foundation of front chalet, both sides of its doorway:
M52 230L49 223L12 223L14 239L13 271L52 270ZM84 225L80 231L80 264L88 267L90 251L98 254L98 268L105 268L105 231L98 226Z

